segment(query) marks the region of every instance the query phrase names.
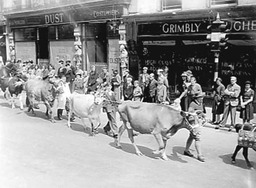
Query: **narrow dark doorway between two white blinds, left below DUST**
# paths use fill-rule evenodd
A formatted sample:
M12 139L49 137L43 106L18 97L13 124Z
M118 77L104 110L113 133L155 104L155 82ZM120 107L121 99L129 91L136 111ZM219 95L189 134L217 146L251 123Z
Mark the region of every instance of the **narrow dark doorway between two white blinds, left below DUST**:
M47 27L38 28L38 59L44 61L49 59Z

